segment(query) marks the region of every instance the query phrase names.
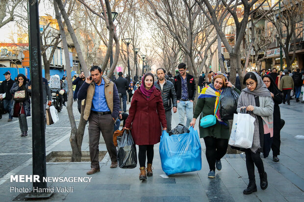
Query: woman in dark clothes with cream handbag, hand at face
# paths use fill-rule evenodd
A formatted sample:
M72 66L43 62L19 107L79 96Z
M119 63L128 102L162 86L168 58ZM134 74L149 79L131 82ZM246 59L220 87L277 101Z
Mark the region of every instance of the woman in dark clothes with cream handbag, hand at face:
M24 74L18 74L17 80L10 90L13 94L13 107L10 113L13 117L19 118L20 136L27 136L26 116L30 116L30 99L27 93L28 87Z

